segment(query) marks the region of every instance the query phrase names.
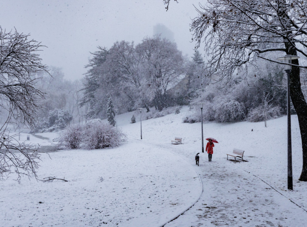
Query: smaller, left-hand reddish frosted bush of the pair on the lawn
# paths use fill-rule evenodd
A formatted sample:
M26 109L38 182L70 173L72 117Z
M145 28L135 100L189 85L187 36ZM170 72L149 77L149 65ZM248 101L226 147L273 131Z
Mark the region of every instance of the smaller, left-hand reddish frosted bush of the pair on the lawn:
M65 148L80 148L83 138L82 125L72 125L60 132L59 145Z

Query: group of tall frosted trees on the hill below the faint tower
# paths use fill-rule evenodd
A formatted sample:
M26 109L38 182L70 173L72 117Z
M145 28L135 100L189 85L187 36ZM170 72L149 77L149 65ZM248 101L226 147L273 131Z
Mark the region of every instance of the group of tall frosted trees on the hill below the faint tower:
M175 43L160 36L146 37L140 44L115 42L93 53L87 65L84 97L89 117L105 117L111 96L122 112L150 106L162 110L173 102L167 93L186 74L187 61Z

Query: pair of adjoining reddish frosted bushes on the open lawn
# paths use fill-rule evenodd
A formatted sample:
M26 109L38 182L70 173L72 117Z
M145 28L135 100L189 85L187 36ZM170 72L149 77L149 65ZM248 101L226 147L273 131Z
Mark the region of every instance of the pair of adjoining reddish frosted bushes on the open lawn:
M101 149L119 146L125 134L114 126L89 121L86 125L75 125L60 133L59 144L66 148Z

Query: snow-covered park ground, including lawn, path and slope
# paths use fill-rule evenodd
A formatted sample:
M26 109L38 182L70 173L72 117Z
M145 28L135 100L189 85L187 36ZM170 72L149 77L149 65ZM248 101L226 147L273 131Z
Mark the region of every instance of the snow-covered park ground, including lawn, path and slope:
M118 128L127 134L121 146L42 154L39 178L55 176L68 182L24 178L18 184L11 175L0 182L0 225L306 225L307 183L297 180L302 152L296 115L292 116L294 190L289 191L286 117L268 121L266 128L264 122L204 122L204 137L219 141L208 162L208 155L201 153L201 123L182 123L188 111L183 107L180 114L149 120L142 113L142 140L139 113L121 114ZM132 114L135 124L130 124ZM21 133L21 140L26 136ZM31 135L27 142L48 146L56 134L38 136ZM175 137L182 137L183 144L171 144ZM244 150L247 161L227 160L233 148Z

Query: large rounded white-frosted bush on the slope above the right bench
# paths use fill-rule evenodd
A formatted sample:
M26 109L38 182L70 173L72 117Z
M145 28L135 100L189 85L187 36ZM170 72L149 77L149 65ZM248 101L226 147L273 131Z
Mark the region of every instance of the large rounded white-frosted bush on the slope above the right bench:
M244 119L245 107L230 96L217 98L213 105L214 118L218 122L235 122Z

